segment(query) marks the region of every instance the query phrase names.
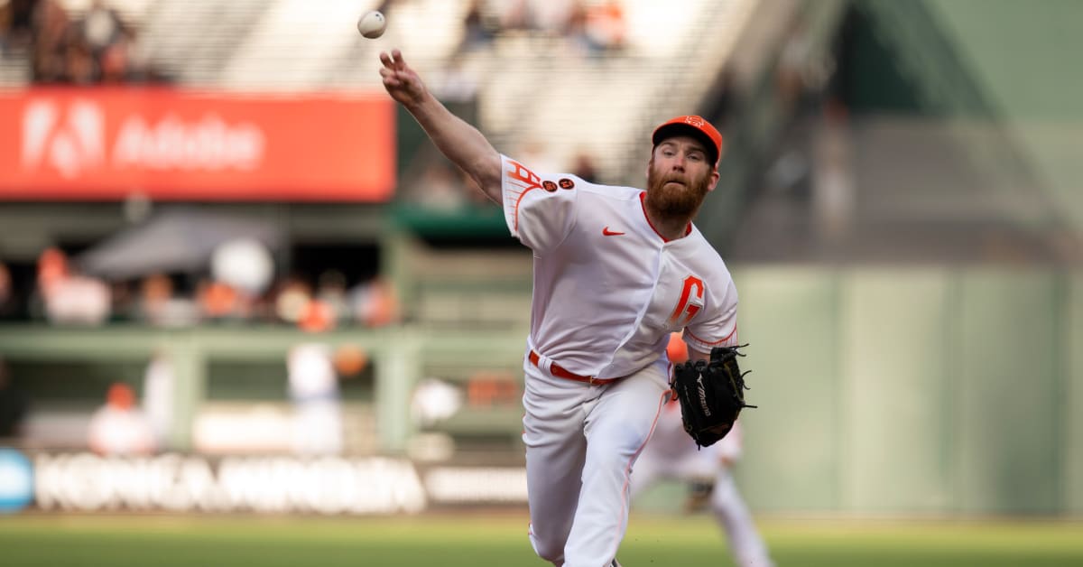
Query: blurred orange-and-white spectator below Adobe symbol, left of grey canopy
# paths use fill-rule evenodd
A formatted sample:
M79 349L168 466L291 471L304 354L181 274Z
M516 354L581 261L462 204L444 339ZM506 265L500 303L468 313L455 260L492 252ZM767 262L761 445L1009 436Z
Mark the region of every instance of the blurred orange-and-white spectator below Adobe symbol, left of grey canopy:
M38 291L50 322L93 325L109 317L109 287L101 280L74 273L60 248L48 248L38 259Z

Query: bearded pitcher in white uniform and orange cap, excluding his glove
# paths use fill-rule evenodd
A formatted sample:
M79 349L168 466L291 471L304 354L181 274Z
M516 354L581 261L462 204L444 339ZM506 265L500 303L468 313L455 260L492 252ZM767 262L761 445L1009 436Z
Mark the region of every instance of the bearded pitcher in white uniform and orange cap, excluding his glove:
M647 190L535 171L447 111L395 50L388 93L503 204L534 253L523 441L534 551L556 566L618 565L631 467L668 392L669 334L708 358L736 330L736 289L692 225L718 182L722 138L699 116L654 130Z

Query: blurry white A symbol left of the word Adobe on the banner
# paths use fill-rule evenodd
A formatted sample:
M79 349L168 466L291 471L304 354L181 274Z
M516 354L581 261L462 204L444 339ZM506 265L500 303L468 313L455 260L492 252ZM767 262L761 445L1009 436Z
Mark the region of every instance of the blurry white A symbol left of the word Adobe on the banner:
M31 101L23 114L23 167L56 169L73 179L105 162L105 116L97 104Z

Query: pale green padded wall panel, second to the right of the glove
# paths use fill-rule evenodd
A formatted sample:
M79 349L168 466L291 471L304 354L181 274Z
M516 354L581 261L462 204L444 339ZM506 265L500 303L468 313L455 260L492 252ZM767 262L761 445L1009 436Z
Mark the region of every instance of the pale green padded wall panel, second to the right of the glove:
M951 501L951 280L943 270L853 272L844 298L844 505L941 511Z

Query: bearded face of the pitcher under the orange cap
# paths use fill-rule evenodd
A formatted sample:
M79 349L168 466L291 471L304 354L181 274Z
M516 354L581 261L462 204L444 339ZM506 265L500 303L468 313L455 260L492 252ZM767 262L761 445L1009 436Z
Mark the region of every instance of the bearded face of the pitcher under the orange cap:
M718 171L695 138L677 136L663 140L647 167L647 201L665 215L695 214L715 184Z

